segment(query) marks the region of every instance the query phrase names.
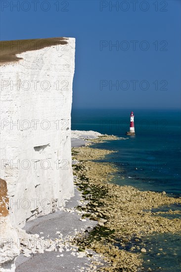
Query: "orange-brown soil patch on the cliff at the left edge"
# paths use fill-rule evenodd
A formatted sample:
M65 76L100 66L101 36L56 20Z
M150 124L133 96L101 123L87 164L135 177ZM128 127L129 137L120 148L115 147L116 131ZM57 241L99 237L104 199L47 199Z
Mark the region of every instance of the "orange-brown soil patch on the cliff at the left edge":
M4 217L8 215L8 203L7 184L6 181L0 179L0 216Z

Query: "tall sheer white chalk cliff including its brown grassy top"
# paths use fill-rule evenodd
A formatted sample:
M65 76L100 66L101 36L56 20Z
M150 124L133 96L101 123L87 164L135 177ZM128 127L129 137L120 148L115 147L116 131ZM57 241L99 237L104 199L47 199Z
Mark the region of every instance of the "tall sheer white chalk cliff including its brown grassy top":
M56 211L74 194L71 105L75 39L2 43L0 178L7 185L1 203L8 197L8 215L3 214L3 204L1 227L4 222L4 227L13 229ZM18 251L10 256L5 247L8 244L1 243L1 253L9 256L3 258L1 271L14 271L13 258Z

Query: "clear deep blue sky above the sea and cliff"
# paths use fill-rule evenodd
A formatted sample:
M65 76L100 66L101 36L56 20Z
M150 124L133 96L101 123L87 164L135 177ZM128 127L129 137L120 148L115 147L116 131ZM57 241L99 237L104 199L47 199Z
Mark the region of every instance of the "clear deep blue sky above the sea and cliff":
M0 4L1 41L76 38L73 108L180 108L180 0Z

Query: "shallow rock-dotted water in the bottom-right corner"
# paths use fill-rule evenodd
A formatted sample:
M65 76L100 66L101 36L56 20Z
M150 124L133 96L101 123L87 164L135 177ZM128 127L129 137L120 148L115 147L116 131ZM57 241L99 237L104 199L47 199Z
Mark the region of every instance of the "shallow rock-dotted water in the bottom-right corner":
M181 233L171 234L153 233L142 239L133 239L125 246L120 246L118 242L115 244L120 249L131 251L131 247L135 247L131 252L140 252L140 248L145 248L146 252L141 254L143 259L143 272L179 272L181 271ZM136 239L136 241L135 241Z

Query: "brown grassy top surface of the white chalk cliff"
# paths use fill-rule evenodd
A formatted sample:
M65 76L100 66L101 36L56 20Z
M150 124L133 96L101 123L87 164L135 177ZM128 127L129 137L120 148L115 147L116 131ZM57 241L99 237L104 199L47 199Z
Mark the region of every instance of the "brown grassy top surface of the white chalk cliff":
M0 63L19 61L20 54L26 51L33 51L43 49L52 45L66 45L66 38L47 38L47 39L31 39L31 40L13 40L13 41L0 41Z

